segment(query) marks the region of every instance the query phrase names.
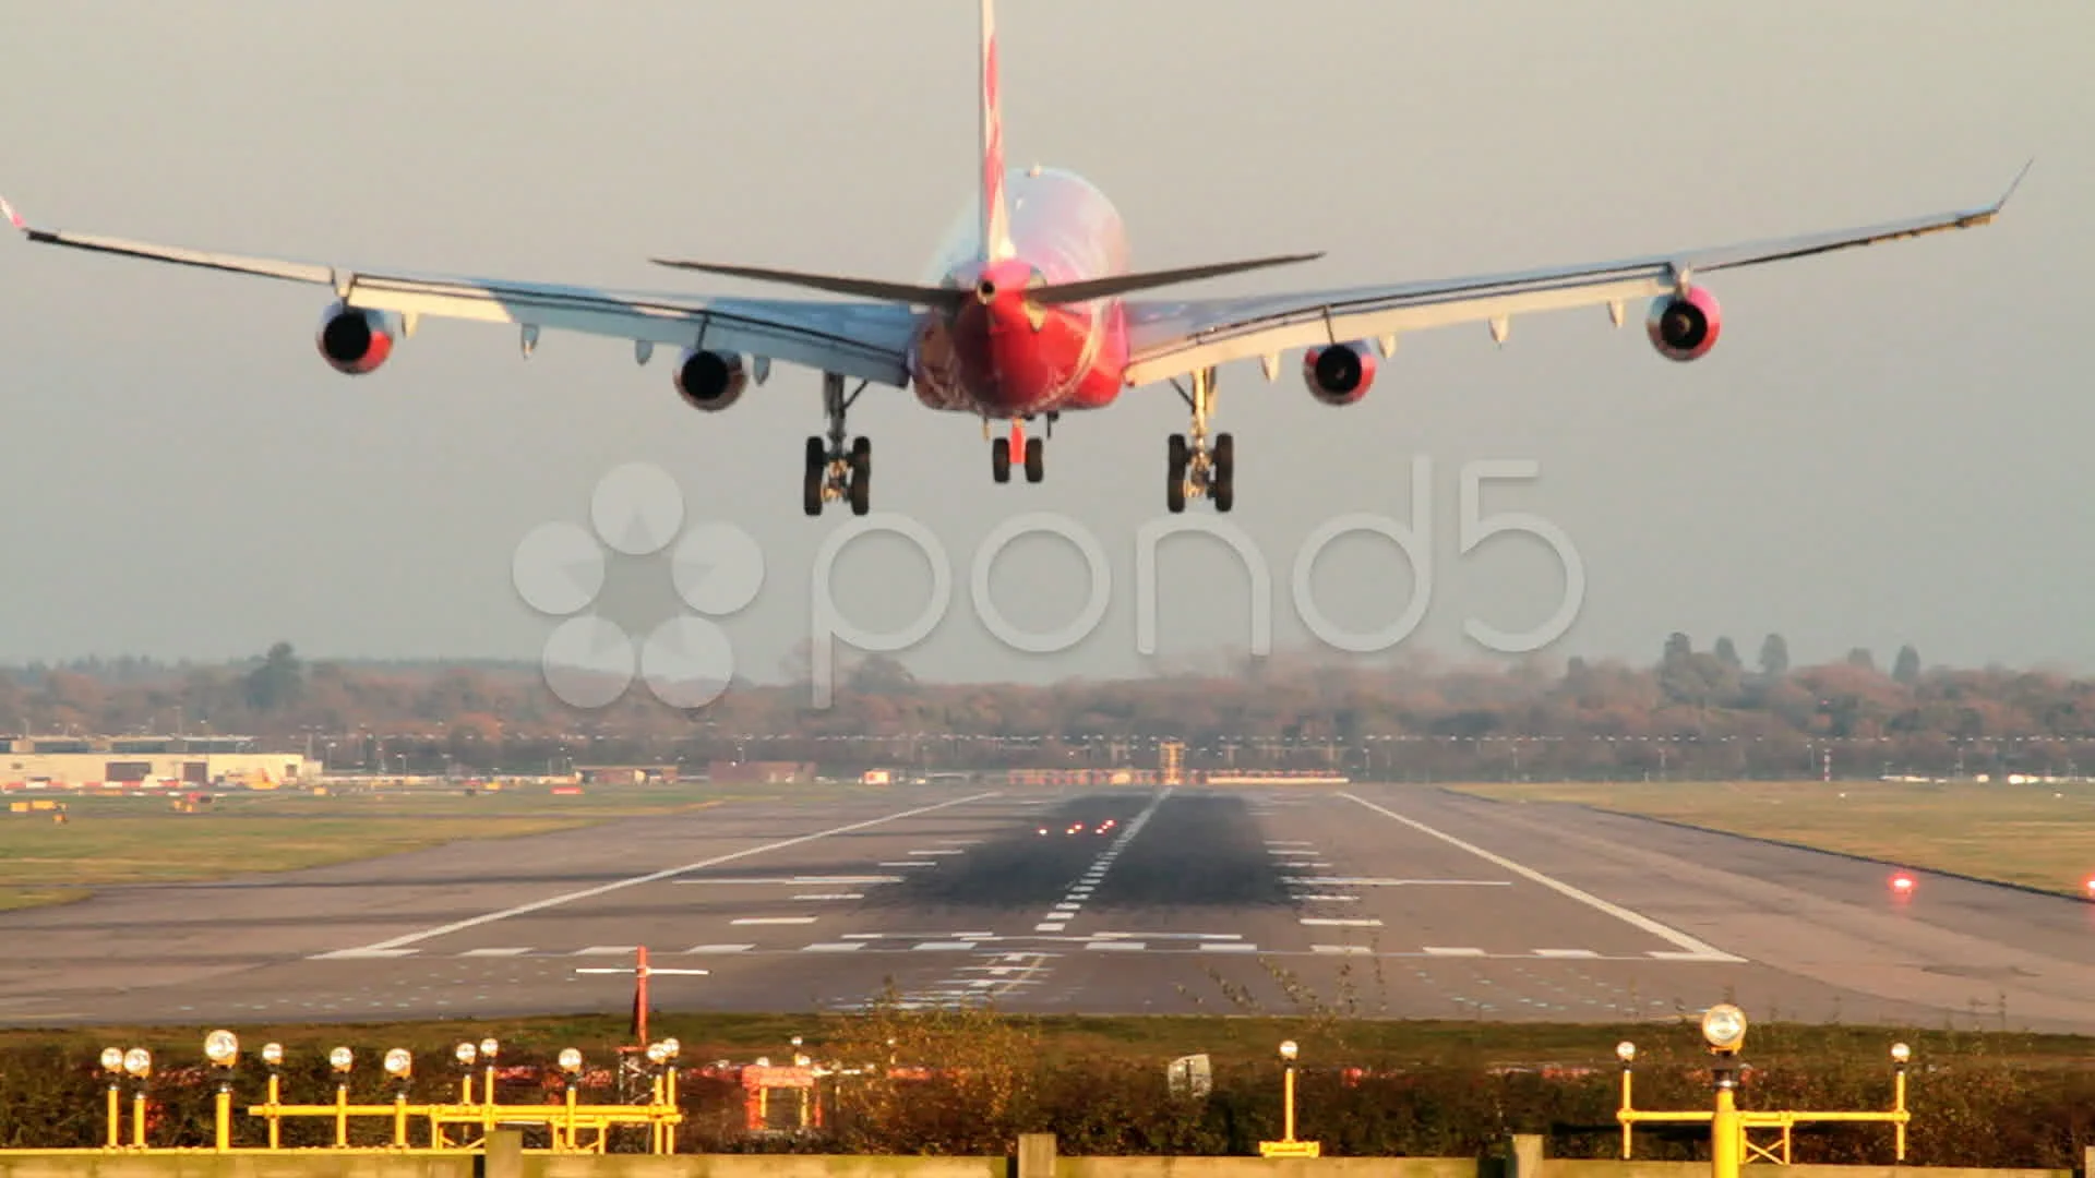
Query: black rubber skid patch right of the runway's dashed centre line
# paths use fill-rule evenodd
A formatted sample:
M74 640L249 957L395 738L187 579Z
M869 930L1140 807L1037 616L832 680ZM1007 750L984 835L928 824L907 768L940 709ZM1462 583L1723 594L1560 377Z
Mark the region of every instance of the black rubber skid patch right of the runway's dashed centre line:
M1295 897L1238 794L1179 790L1106 872L1100 908L1293 908Z

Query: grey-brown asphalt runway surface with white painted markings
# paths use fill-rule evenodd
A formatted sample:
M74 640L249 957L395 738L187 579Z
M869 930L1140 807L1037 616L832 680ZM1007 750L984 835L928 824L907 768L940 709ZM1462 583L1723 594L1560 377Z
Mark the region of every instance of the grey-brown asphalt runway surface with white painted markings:
M2095 1033L2095 906L1425 786L729 803L0 914L0 1025L995 1004Z

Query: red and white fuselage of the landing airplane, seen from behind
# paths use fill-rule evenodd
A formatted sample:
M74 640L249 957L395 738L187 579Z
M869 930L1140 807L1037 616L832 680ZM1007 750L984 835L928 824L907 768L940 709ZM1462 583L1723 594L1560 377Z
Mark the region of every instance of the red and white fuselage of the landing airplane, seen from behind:
M1127 272L1121 214L1096 187L1052 168L1012 170L1008 258L989 258L970 208L934 258L941 285L974 291L928 310L909 352L911 388L932 409L1033 417L1100 409L1119 396L1127 321L1119 298L1035 306L1037 283Z

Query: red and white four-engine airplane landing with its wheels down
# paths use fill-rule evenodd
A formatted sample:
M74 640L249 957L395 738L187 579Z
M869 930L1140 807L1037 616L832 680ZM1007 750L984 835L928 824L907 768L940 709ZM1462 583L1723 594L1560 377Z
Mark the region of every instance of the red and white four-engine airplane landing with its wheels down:
M1695 361L1722 331L1716 298L1697 283L1701 275L1988 224L2030 168L1990 205L1862 228L1462 279L1148 300L1131 296L1322 254L1129 270L1125 226L1102 191L1075 172L1004 163L995 0L980 0L978 105L978 193L936 252L930 285L652 260L848 302L367 270L34 228L6 201L0 216L36 243L333 287L314 344L348 375L385 365L423 317L517 325L526 358L541 329L631 340L641 365L656 346L681 348L670 373L677 394L708 413L735 405L752 379L763 386L773 361L819 369L828 428L807 438L809 516L821 516L832 501L848 501L857 516L872 509L872 440L851 438L846 428L846 413L867 386L909 388L928 409L980 417L985 438L993 434L991 421L1006 421L1008 434L991 438L993 480L1010 482L1018 463L1027 482L1041 482L1043 444L1027 434L1029 423L1045 419L1052 436L1062 413L1106 409L1123 390L1167 381L1192 421L1186 434L1167 438L1165 505L1184 511L1188 499L1209 499L1217 511L1230 511L1236 446L1230 434L1211 432L1215 369L1226 363L1257 356L1265 379L1276 381L1282 354L1301 348L1309 394L1322 405L1358 405L1374 384L1376 358L1389 358L1404 333L1485 323L1504 344L1515 314L1586 306L1607 306L1609 321L1622 327L1628 300L1647 298L1651 346L1670 361ZM846 394L851 379L859 384Z

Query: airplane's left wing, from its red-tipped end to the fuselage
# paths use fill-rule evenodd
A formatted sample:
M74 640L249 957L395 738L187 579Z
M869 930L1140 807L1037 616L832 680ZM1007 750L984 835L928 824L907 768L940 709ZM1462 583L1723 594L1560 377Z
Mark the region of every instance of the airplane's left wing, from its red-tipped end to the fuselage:
M916 319L890 302L815 302L612 291L553 283L409 275L214 254L36 228L0 201L29 241L331 287L348 306L421 317L515 323L526 329L614 335L639 346L716 348L903 388Z

